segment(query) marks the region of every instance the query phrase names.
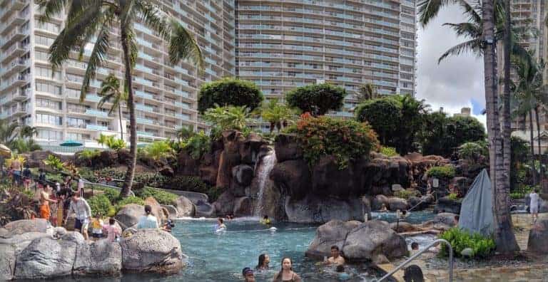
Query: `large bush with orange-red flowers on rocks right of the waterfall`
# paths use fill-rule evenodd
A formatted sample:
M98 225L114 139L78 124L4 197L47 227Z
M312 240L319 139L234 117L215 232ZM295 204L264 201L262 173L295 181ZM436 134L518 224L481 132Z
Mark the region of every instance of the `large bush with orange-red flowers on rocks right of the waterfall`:
M305 160L310 167L325 155L333 155L340 169L355 158L368 157L378 142L367 123L332 117L302 115L288 132L297 135Z

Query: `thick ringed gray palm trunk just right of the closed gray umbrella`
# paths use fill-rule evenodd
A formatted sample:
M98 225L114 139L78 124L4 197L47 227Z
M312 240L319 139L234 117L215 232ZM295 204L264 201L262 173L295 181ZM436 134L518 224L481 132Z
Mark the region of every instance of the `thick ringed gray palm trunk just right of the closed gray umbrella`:
M509 214L508 191L505 190L507 171L504 167L504 137L501 138L501 123L498 112L497 95L497 56L494 44L494 0L483 2L483 34L486 41L484 48L485 100L487 105L489 164L492 181L492 203L494 217L494 241L500 254L513 254L519 251L512 220ZM509 5L509 0L506 0ZM507 34L508 35L508 34ZM507 38L508 40L508 38ZM507 48L504 53L509 52ZM509 61L509 60L508 60ZM507 84L507 83L506 83ZM505 85L508 86L508 85ZM503 110L503 116L505 110ZM503 120L505 121L505 120ZM505 124L502 124L505 128Z

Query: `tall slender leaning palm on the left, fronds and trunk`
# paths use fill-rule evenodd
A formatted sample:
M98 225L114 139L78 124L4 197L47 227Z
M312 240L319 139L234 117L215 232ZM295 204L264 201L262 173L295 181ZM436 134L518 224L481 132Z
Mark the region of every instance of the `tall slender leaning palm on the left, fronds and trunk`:
M39 9L44 11L41 20L67 11L64 29L50 47L49 61L53 68L59 68L68 60L73 50L83 57L84 46L96 38L88 59L86 73L80 93L80 100L86 98L91 80L96 77L97 68L106 63L107 53L113 41L120 41L123 52L124 85L128 91L128 111L130 123L130 155L128 172L124 179L121 195L127 197L133 184L133 174L137 157L136 116L132 87L132 70L138 53L133 23L142 21L158 36L168 42L170 62L191 58L198 69L203 71L204 61L193 35L181 24L162 10L156 1L145 0L38 0ZM118 29L120 38L112 38L111 31Z

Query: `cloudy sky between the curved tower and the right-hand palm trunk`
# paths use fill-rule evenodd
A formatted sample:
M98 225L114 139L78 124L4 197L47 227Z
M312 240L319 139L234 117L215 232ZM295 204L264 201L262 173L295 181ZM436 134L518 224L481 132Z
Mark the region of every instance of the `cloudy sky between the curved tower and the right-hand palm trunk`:
M485 122L480 115L485 105L482 60L470 53L437 63L448 48L465 41L442 23L463 21L459 7L447 7L426 28L419 27L417 98L425 99L433 110L443 107L445 113L460 113L460 108L470 107L473 115Z

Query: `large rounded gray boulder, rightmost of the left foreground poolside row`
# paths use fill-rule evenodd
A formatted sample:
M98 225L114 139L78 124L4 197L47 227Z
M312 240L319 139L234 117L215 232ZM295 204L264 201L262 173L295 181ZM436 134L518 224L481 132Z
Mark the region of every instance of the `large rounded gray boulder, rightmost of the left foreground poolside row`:
M166 231L138 230L120 245L126 271L177 273L183 268L181 243Z

